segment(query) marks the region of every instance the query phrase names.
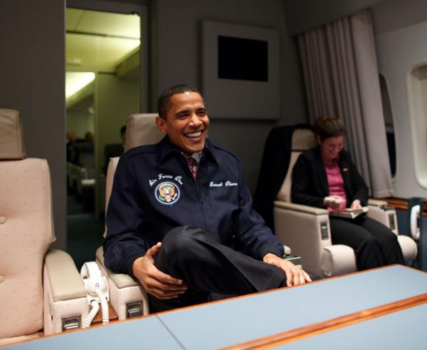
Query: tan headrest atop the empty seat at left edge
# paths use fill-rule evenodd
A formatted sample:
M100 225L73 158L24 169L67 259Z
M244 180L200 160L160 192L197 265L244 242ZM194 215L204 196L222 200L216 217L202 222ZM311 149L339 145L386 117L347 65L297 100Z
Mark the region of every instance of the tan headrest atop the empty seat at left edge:
M25 157L21 115L17 110L0 108L0 159Z

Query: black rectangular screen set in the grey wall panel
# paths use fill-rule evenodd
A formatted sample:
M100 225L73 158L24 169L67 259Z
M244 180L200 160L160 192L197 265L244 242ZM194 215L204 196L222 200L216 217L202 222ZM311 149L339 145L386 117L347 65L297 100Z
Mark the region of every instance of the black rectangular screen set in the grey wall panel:
M218 78L268 81L268 42L218 36Z

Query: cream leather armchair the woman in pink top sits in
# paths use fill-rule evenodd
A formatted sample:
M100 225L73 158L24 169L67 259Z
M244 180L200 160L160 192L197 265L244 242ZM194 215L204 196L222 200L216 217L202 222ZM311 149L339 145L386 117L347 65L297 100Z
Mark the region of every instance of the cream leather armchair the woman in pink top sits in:
M275 233L302 257L304 269L320 277L342 275L357 270L354 250L347 245L332 245L329 215L326 209L291 203L292 169L300 154L317 147L310 129L295 129L289 169L274 202ZM368 215L398 235L406 263L416 259L417 246L412 238L399 235L396 211L384 201L369 200Z

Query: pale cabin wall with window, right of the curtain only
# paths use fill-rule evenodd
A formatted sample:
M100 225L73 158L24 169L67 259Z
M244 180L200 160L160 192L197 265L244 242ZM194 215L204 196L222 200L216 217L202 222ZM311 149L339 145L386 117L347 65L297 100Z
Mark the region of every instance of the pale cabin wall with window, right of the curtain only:
M379 71L394 118L394 196L427 196L427 3L385 1L373 8Z

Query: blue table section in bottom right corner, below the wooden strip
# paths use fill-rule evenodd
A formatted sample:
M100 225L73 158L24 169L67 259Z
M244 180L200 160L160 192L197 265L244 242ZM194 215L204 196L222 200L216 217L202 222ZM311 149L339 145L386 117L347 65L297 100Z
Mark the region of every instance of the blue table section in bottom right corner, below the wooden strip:
M275 349L421 350L426 349L426 321L427 304L421 304Z

